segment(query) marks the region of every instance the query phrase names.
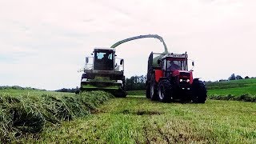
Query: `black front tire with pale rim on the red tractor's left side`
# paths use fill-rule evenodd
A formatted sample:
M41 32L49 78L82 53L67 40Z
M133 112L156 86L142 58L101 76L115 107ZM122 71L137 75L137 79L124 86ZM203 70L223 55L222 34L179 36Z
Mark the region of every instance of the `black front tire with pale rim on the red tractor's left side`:
M158 100L160 102L170 102L172 100L172 88L168 79L163 79L158 83Z

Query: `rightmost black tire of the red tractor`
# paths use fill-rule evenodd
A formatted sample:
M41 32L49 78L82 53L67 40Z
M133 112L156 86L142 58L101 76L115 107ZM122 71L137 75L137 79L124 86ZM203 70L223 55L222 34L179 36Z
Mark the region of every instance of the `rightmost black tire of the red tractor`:
M194 103L205 103L207 98L206 84L198 79L194 79L192 83L192 101Z

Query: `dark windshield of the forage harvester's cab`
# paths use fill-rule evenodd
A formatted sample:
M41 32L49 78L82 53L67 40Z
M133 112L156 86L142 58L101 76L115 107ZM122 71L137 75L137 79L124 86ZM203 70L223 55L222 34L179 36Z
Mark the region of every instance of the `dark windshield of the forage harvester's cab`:
M114 70L113 51L95 51L94 70Z

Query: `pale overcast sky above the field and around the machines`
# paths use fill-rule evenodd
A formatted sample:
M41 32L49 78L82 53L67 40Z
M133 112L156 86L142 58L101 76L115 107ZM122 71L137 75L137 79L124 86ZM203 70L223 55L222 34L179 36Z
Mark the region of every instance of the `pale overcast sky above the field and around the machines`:
M254 0L0 0L0 86L46 90L79 86L94 47L140 34L161 35L170 52L195 61L194 75L215 81L256 76ZM154 38L118 46L126 77L146 74Z

